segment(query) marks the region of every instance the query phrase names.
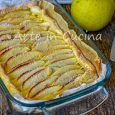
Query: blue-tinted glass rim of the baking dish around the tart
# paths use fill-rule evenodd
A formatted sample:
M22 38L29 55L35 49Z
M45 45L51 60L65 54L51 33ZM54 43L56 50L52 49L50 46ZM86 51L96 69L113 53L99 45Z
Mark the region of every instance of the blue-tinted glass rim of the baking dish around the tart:
M83 34L85 35L86 39L88 39L89 37L87 36L87 34L83 31L83 29L81 27L79 27L79 25L74 21L74 19L70 16L70 14L62 7L62 5L60 5L57 0L54 0L56 2L56 5L62 10L62 12L73 22L73 24L78 28L78 30ZM79 98L81 96L84 96L88 93L91 93L93 91L95 91L96 89L98 89L98 87L100 86L103 86L107 80L110 78L110 75L111 75L111 71L112 71L112 68L111 68L111 64L109 63L109 61L107 60L107 58L104 56L104 54L98 49L98 47L96 46L96 44L91 40L91 39L88 39L89 42L93 45L94 49L100 54L100 56L102 57L102 59L106 62L106 66L107 66L107 72L106 72L106 76L105 78L94 84L94 85L91 85L90 87L88 88L85 88L83 90L80 90L78 92L75 92L73 94L70 94L68 96L64 96L64 97L60 97L60 98L57 98L57 99L53 99L51 101L45 101L45 102L38 102L38 103L35 103L35 104L28 104L28 103L24 103L24 102L21 102L17 99L15 99L11 94L10 92L8 91L8 89L6 88L5 84L3 83L3 81L0 79L0 85L5 93L5 96L12 102L18 104L18 105L21 105L21 106L25 106L25 107L38 107L38 108L50 108L50 107L54 107L54 106L57 106L57 105L60 105L60 104L63 104L65 102L69 102L71 100L74 100L76 98Z

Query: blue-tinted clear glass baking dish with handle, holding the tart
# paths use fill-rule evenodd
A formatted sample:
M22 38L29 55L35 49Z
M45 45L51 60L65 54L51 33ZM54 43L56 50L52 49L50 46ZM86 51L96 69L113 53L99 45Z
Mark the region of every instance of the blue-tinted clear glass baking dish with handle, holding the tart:
M91 39L89 39L88 35L86 35L86 33L78 26L78 24L73 20L73 18L66 12L66 10L60 4L57 3L56 0L54 5L55 5L55 11L58 12L60 15L62 15L62 17L68 22L69 28L74 29L77 35L83 34L84 42L86 42L94 50L97 51L98 55L102 58L102 62L106 64L107 68L106 76L100 82L97 82L94 85L91 85L73 94L63 96L51 101L45 101L33 104L24 103L15 99L10 94L3 81L0 79L0 86L9 104L11 105L10 106L12 108L11 112L13 112L15 109L16 111L20 111L22 113L43 112L45 115L49 115L51 112L54 113L60 108L69 107L70 109L72 106L74 107L76 106L76 111L74 111L75 114L85 114L97 108L108 97L108 92L104 88L104 85L109 79L111 74L111 65L109 61L106 59L104 54L97 48L95 43ZM27 111L28 108L30 110L31 108L34 109L32 111ZM74 114L72 112L73 111L71 110L70 114Z

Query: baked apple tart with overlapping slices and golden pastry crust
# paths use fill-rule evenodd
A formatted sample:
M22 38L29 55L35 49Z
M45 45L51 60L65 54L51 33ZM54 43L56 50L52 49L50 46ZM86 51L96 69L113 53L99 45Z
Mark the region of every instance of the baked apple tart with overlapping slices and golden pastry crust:
M12 95L51 100L98 78L98 54L72 39L50 3L28 3L0 13L0 77Z

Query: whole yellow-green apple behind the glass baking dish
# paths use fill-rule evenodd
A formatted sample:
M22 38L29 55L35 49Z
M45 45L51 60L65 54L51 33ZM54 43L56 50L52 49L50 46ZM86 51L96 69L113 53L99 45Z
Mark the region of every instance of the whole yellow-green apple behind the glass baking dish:
M97 31L104 28L114 14L114 0L73 0L71 15L85 30Z

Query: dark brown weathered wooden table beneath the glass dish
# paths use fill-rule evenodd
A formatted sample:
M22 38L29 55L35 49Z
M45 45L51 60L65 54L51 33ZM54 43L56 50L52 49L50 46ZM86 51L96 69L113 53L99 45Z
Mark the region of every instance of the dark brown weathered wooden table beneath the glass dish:
M64 7L70 11L70 5L65 5ZM115 36L115 16L113 16L111 23L103 30L98 32L89 32L89 34L102 34L102 41L95 41L95 43L110 61L110 51L112 41ZM106 89L109 92L109 98L101 106L87 115L115 115L115 62L110 61L110 63L112 65L112 75L106 84ZM76 115L76 106L60 109L55 113L55 115L71 115L71 111L72 115ZM22 114L14 113L13 115Z

